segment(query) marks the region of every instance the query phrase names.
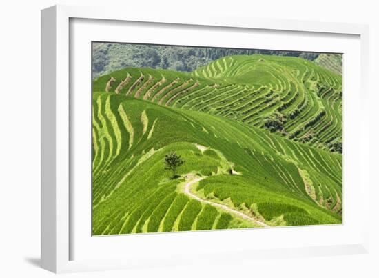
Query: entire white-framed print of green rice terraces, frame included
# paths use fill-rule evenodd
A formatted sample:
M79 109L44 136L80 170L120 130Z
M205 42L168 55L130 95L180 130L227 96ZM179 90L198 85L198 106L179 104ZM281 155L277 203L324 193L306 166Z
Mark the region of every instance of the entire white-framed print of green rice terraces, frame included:
M43 10L43 268L367 252L367 34Z

